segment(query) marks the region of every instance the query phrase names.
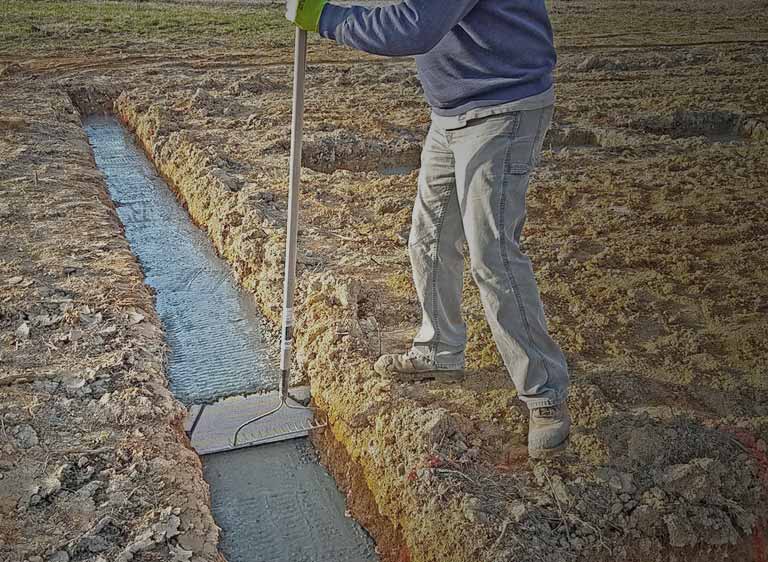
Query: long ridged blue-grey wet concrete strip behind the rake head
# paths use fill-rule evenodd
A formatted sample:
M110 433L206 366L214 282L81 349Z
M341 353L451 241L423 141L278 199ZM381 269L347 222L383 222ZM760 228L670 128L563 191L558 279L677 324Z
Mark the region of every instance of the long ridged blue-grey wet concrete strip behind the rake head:
M275 388L253 299L113 117L84 122L96 164L139 258L170 345L169 377L187 405Z

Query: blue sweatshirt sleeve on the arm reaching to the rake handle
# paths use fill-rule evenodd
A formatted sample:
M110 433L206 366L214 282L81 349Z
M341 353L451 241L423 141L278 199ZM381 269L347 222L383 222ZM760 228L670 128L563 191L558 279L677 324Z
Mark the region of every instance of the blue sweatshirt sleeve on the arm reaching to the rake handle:
M319 32L374 55L421 55L432 50L478 1L404 0L378 8L326 4Z

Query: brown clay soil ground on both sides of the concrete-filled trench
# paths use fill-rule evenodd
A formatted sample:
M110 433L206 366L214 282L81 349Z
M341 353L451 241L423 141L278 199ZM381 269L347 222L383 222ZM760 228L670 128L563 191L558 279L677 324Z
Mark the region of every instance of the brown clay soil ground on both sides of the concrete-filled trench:
M76 3L78 24L20 5L26 31L0 35L0 559L214 560L152 296L79 116L136 133L277 325L290 29L266 8ZM418 321L429 112L412 61L313 38L295 367L383 560L766 561L766 13L552 5L557 113L524 231L573 376L571 446L549 462L527 460L469 275L467 381L373 372Z

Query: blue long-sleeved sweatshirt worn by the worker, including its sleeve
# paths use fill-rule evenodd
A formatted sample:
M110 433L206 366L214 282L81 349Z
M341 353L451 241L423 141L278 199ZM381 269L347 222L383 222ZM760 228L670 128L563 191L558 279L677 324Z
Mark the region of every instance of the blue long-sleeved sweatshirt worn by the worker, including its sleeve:
M544 0L404 0L327 4L320 34L385 56L416 56L437 115L527 98L552 86L555 48Z

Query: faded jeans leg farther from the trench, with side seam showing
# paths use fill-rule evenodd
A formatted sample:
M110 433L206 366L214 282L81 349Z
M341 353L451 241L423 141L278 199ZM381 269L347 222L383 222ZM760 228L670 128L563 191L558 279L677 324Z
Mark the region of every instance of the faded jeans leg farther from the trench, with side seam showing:
M529 407L565 400L568 368L550 337L528 257L520 249L529 173L552 108L478 119L448 132L472 275L499 352Z

